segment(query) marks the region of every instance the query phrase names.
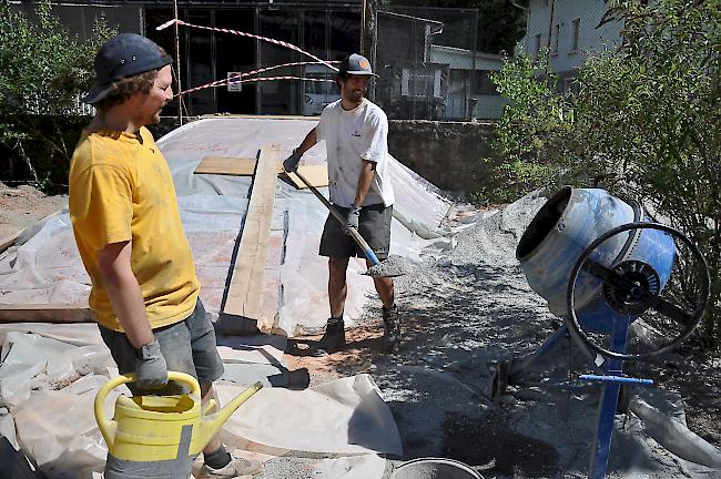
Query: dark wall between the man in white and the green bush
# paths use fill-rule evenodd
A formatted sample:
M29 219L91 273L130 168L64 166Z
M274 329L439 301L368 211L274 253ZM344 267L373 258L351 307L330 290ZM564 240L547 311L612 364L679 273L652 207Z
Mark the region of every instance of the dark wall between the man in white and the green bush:
M436 186L467 196L487 181L491 123L390 120L388 129L390 154Z

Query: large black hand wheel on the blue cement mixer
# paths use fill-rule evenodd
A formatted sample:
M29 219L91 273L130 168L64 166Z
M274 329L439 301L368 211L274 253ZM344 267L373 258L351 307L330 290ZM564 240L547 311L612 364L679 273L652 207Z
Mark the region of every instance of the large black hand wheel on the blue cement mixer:
M697 298L693 308L689 310L682 305L674 304L660 296L660 283L658 274L653 268L646 263L638 261L621 262L611 267L600 265L590 259L591 254L598 248L601 243L608 238L632 230L658 230L667 233L676 241L683 243L691 253L695 261L694 264L699 265ZM678 247L678 246L677 246ZM676 322L683 327L683 330L666 342L663 345L648 351L639 354L627 354L610 350L600 346L591 336L583 330L577 317L575 294L576 283L581 271L597 276L603 282L602 291L605 298L609 306L618 314L630 315L641 314L648 309L654 309L662 316ZM687 275L690 276L690 275ZM636 222L628 223L609 230L591 243L579 256L576 265L571 269L570 278L568 282L567 291L567 307L568 307L568 326L578 335L578 337L592 350L601 354L602 356L621 359L621 360L644 360L654 356L668 353L679 346L686 340L693 329L701 320L705 306L709 302L709 268L701 251L694 245L683 233L659 223ZM611 319L611 318L609 318Z

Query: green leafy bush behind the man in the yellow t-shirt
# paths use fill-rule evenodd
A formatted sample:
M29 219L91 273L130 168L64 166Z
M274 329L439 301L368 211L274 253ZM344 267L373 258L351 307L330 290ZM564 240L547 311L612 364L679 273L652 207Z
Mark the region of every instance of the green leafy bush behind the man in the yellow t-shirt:
M114 32L101 19L91 40L80 41L53 17L49 1L38 4L37 17L31 22L0 2L0 144L47 186L64 183L77 140L70 119L92 84L95 51Z

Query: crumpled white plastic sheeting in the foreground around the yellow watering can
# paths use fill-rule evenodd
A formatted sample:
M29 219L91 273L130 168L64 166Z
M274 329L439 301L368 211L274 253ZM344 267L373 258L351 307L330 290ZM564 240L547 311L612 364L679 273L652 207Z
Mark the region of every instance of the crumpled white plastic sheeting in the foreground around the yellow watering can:
M8 438L17 437L17 445L50 478L92 477L102 471L108 452L93 417L93 400L98 388L116 375L116 369L97 335L97 326L39 326L38 334L30 333L33 325L3 325L0 329L0 397L7 407L0 410L0 431ZM282 366L282 349L262 338L221 337L219 343L224 345L220 351L226 367ZM230 380L248 385L254 378ZM221 405L243 389L238 385L220 381ZM128 394L125 386L109 395L109 416L121 393ZM343 477L332 473L358 461L380 470L378 476L365 477L380 478L385 460L376 455L400 453L393 416L367 375L307 390L261 389L231 416L223 437L226 444L241 445L266 458L290 450L335 456L337 460L316 465L318 478ZM364 459L343 459L358 455Z

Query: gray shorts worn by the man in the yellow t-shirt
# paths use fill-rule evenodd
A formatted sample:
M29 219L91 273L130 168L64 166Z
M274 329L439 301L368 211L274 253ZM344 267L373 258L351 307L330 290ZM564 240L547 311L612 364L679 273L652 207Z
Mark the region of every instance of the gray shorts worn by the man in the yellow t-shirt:
M98 325L103 342L110 349L120 374L135 371L135 349L124 333L108 329ZM200 298L195 309L185 319L169 326L153 329L160 343L160 350L167 364L167 370L185 373L194 376L201 385L209 385L223 375L223 361L217 354L215 329ZM128 387L133 395L172 395L187 393L190 389L170 383L162 389L144 391L133 383Z

